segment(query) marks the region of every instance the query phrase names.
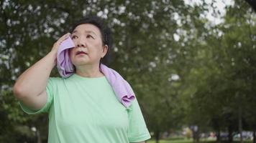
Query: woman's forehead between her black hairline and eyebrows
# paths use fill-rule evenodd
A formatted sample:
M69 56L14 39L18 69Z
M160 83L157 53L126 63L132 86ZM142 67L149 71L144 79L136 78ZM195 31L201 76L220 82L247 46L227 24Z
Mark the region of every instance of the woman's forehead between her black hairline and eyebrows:
M94 33L96 35L100 35L101 31L97 26L94 26L93 24L80 24L76 26L76 29L73 30L72 33Z

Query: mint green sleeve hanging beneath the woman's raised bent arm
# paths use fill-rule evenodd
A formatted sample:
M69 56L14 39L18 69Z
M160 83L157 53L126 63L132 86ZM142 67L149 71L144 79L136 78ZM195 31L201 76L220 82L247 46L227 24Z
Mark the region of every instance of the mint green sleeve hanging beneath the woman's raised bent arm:
M53 102L53 89L54 89L54 80L53 78L49 78L46 86L46 93L47 93L47 102L42 109L39 110L34 110L29 107L27 107L25 104L22 102L19 102L22 110L26 112L27 114L40 114L40 113L46 113L49 112L49 109L52 105Z

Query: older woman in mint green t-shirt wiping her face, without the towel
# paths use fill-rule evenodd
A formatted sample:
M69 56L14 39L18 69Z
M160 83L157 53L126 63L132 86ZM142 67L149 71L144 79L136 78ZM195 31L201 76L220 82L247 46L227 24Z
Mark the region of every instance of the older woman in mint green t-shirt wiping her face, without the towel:
M100 70L111 44L102 19L87 16L52 50L17 79L14 94L27 114L49 114L48 142L125 143L150 139L137 99L124 107ZM58 47L71 37L69 57L75 73L50 77Z

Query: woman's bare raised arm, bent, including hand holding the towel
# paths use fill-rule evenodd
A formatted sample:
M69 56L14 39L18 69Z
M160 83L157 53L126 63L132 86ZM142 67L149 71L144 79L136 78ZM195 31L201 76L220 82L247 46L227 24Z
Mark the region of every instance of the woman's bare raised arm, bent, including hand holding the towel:
M27 107L41 109L47 102L46 86L50 72L56 65L58 47L70 36L67 33L52 46L52 51L19 76L14 84L14 95Z

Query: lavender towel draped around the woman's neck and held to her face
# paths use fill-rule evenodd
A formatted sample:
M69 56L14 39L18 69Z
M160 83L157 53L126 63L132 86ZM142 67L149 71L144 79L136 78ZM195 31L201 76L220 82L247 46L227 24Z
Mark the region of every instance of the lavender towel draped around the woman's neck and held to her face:
M57 54L57 67L61 77L70 77L74 72L74 66L68 55L68 49L75 47L72 39L68 37L58 47ZM116 94L116 98L121 102L124 107L129 107L135 98L135 94L129 83L114 69L110 69L104 64L100 65L101 72L109 81L112 89Z

